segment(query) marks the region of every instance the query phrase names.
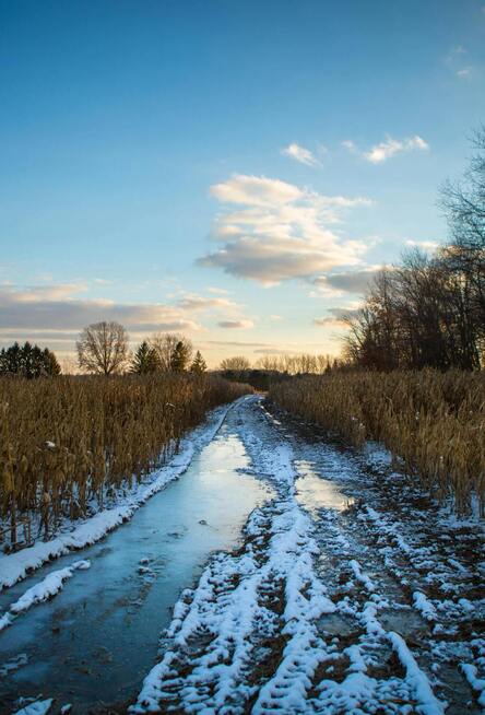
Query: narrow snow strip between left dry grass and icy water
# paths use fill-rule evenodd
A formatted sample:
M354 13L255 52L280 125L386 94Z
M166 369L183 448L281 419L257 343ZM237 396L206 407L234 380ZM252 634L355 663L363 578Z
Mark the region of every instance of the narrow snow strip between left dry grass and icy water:
M247 398L240 398L240 400L245 399ZM182 437L178 454L166 465L152 472L147 480L137 484L131 491L120 491L115 500L116 506L98 512L82 523L67 521L63 528L69 529L68 532L49 541L38 541L16 553L1 554L0 590L22 581L47 561L99 541L106 534L130 519L133 513L153 494L159 492L168 482L177 479L188 469L193 455L214 438L228 410L235 408L238 402L236 400L236 402L212 410L203 424Z

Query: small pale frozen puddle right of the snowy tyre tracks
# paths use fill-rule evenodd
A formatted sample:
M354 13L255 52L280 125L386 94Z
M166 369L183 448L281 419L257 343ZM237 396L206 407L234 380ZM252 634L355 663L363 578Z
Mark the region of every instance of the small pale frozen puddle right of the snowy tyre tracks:
M319 508L332 508L343 512L353 503L353 499L345 496L338 485L322 479L312 468L311 461L295 460L297 479L295 481L296 500L312 516Z

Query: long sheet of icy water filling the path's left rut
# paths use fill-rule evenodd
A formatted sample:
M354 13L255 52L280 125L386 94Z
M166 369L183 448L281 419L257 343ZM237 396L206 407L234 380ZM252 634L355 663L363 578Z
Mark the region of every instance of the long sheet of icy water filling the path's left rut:
M43 693L73 712L122 708L154 665L180 591L213 551L230 549L249 513L270 496L247 473L241 442L223 426L188 471L97 544L56 560L0 596L2 610L58 569L88 559L54 600L0 633L0 712ZM2 666L25 663L5 673ZM58 712L58 711L56 711Z

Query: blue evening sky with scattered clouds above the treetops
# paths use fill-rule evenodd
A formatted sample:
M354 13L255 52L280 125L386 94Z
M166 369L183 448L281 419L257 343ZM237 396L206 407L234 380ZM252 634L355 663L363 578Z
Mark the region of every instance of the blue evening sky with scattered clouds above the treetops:
M485 1L0 0L0 345L338 354L379 267L447 238Z

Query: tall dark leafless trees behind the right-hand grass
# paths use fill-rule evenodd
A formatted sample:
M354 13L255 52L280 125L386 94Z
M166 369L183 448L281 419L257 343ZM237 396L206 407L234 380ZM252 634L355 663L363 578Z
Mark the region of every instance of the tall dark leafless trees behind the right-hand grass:
M481 370L485 362L485 127L460 183L441 189L450 237L385 268L345 317L345 356L370 370Z

